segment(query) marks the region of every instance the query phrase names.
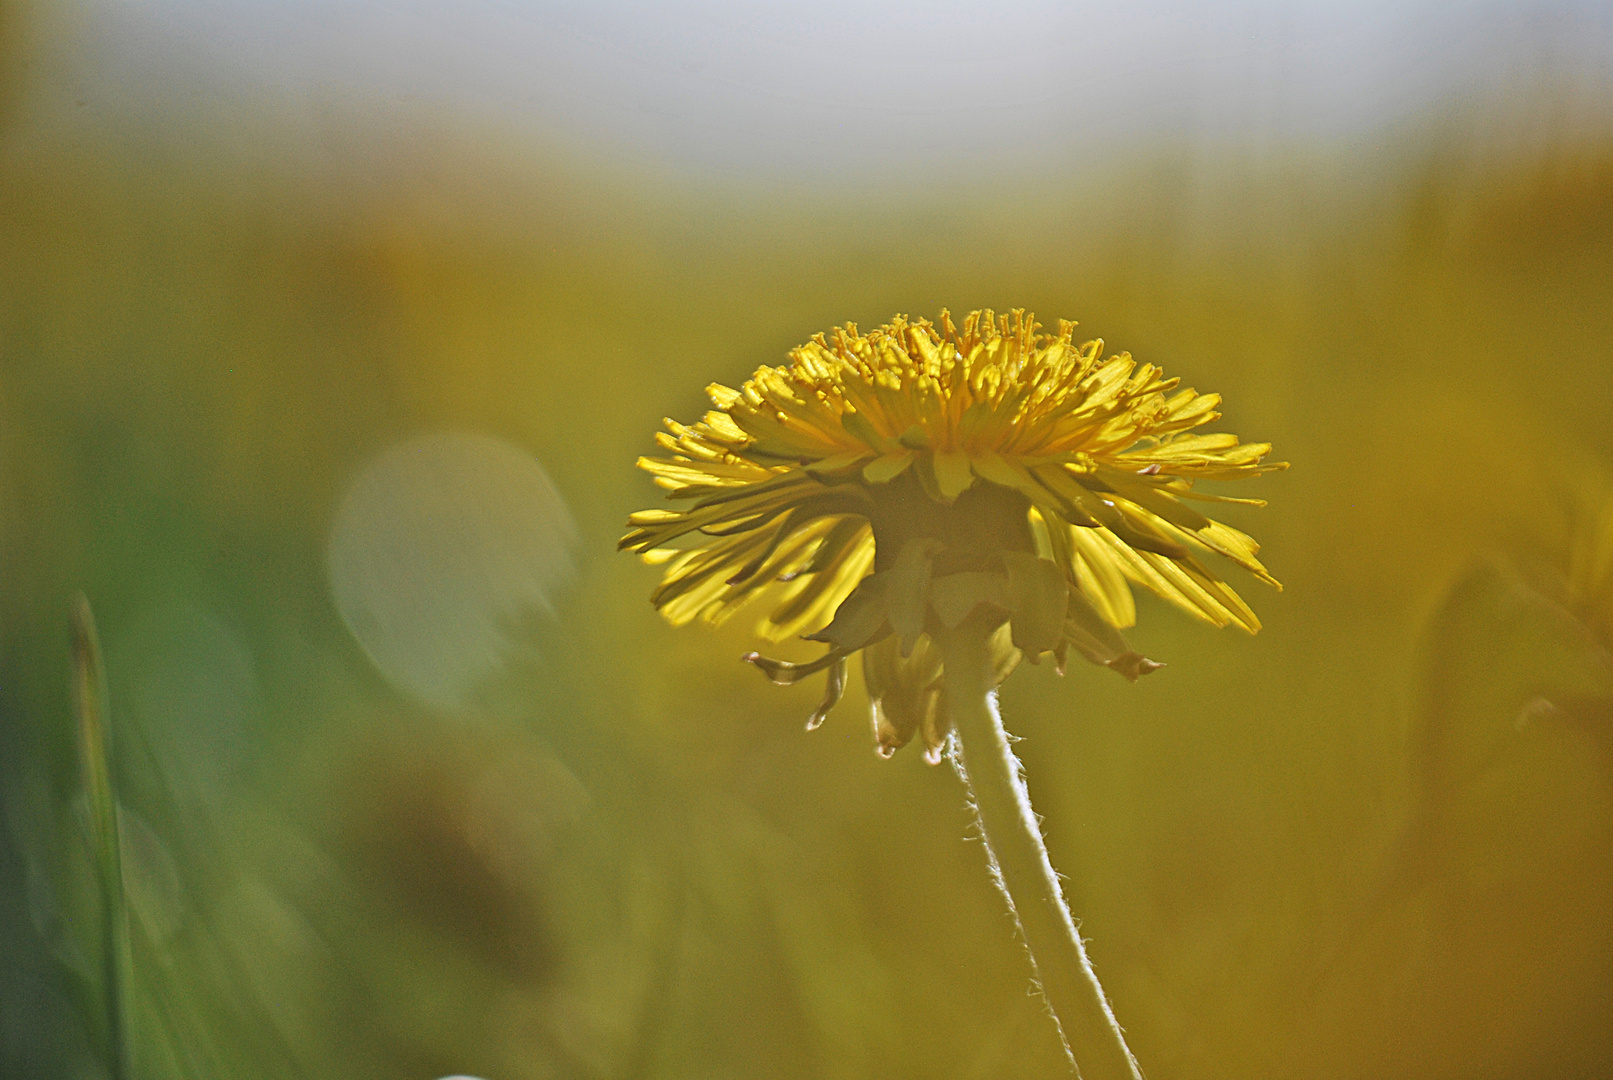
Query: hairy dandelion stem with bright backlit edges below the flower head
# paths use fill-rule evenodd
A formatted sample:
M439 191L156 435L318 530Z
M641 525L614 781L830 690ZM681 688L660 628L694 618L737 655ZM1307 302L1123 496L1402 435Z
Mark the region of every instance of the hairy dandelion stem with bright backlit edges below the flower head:
M944 708L957 740L953 766L969 791L992 877L1019 922L1071 1067L1082 1080L1140 1080L1142 1070L1087 962L1058 874L1047 858L1042 827L992 690L987 642L995 627L981 616L976 613L939 638Z

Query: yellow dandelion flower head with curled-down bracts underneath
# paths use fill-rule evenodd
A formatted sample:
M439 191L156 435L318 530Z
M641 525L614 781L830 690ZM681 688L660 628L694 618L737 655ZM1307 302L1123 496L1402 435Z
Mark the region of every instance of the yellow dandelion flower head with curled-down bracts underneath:
M1253 633L1255 613L1200 556L1276 580L1250 537L1189 501L1263 505L1194 485L1286 466L1261 464L1266 443L1194 434L1219 397L1077 345L1074 327L1042 334L1023 311L973 311L961 329L945 311L847 324L737 390L708 387L716 408L668 419L666 456L639 459L682 503L632 514L621 540L665 564L652 603L674 624L719 624L766 598L765 638L824 642L808 664L747 656L781 683L829 672L810 727L861 651L877 748L921 733L931 759L948 735L931 638L977 613L1000 622L998 680L1021 656L1063 671L1071 648L1132 680L1158 667L1119 633L1131 585Z

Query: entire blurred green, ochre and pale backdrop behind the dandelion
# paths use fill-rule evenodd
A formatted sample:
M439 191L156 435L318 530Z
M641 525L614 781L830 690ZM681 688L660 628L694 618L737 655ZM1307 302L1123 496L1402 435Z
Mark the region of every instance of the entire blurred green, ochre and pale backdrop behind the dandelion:
M702 387L1079 319L1258 637L1003 690L1157 1080L1613 1074L1613 8L0 0L0 1070L1060 1075L957 779L613 551ZM1247 487L1247 485L1245 485Z

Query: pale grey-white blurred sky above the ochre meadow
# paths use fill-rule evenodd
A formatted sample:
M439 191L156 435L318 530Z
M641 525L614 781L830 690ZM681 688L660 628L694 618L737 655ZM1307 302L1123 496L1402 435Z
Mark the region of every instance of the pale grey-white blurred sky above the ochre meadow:
M1613 103L1607 0L85 3L79 55L131 100L426 108L729 174L1336 140L1542 79Z

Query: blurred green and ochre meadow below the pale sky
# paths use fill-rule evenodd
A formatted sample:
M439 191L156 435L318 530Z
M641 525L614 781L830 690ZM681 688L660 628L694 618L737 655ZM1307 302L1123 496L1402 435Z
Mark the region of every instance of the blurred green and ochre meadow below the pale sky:
M1003 692L1150 1075L1605 1075L1608 759L1511 724L1574 661L1502 585L1447 588L1545 558L1613 459L1613 139L1489 150L1452 106L1387 147L842 197L424 121L13 118L0 1067L100 1075L50 951L90 872L84 590L139 1075L1057 1075L955 777L877 761L855 688L805 735L816 687L739 664L744 625L661 625L611 551L706 382L990 305L1082 319L1295 463L1229 514L1287 585L1248 587L1258 638L1142 601L1166 671ZM353 474L445 429L532 451L582 537L455 714L382 682L324 577Z

